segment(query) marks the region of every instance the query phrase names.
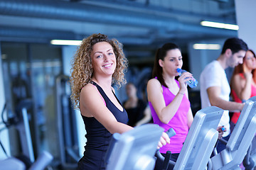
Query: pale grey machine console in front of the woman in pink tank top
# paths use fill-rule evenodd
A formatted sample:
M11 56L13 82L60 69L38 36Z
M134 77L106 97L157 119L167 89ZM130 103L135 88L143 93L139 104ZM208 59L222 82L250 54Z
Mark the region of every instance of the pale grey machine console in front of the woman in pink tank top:
M208 164L208 161L218 140L216 129L223 112L223 109L210 106L196 113L177 162L170 160L169 169L203 170L206 167L211 169L212 165ZM164 157L161 154L157 154L157 159L164 162Z

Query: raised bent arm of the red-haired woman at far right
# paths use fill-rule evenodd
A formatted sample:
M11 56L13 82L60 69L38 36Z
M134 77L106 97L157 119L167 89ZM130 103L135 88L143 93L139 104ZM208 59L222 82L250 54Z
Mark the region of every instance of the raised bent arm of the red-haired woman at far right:
M245 79L242 79L239 74L236 74L231 82L232 89L241 101L249 99L252 93L252 73L247 72L244 75Z

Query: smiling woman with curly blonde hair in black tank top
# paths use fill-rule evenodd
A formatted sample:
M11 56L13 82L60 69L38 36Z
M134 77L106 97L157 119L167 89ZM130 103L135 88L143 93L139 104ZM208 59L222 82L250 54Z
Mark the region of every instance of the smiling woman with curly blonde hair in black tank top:
M72 62L71 98L80 109L87 142L78 169L105 169L105 154L113 133L132 130L127 112L114 94L113 83L121 85L127 59L122 44L107 35L93 34L82 40ZM169 142L161 137L159 147Z

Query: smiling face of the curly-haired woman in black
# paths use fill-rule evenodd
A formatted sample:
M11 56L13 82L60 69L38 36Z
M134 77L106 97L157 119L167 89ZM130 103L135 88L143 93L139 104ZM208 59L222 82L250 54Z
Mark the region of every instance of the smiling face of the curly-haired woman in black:
M112 46L108 42L97 42L91 52L93 74L114 74L116 57Z

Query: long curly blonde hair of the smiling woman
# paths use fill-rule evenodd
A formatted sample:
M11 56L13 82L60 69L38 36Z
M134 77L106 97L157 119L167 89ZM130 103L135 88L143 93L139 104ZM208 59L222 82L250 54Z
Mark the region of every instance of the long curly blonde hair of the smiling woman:
M71 60L71 100L75 109L80 108L79 100L82 87L90 83L92 80L93 68L90 54L92 52L93 45L97 42L110 43L113 48L114 55L116 56L117 67L112 75L112 84L117 84L117 87L119 88L121 84L126 83L126 80L124 79L124 72L127 70L128 61L124 56L122 43L115 39L110 40L107 38L107 35L100 33L90 35L82 40L81 45L78 47L78 50L75 52L75 55Z

